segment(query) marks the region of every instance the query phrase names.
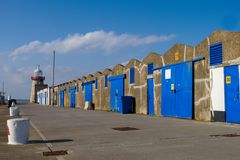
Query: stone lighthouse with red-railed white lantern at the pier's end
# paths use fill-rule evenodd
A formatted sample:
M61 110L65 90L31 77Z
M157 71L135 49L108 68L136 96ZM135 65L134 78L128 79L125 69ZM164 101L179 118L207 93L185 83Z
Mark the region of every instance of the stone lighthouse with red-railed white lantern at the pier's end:
M43 76L43 72L40 69L40 65L34 70L32 79L32 89L30 95L30 103L37 103L37 92L47 88L48 85L44 84L45 77Z

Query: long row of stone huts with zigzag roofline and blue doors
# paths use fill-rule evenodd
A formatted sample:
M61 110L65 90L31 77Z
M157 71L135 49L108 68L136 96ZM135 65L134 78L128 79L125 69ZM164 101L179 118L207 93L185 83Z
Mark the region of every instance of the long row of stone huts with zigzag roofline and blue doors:
M196 46L175 44L54 87L53 104L136 114L240 123L240 32L215 31ZM51 104L52 88L38 92ZM125 97L130 97L126 100Z

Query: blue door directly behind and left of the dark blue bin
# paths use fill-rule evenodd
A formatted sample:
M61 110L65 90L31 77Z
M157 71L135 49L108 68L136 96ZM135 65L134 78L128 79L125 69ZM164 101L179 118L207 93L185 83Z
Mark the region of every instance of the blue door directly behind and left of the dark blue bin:
M110 110L120 112L122 110L122 96L124 96L125 74L112 76L110 81Z

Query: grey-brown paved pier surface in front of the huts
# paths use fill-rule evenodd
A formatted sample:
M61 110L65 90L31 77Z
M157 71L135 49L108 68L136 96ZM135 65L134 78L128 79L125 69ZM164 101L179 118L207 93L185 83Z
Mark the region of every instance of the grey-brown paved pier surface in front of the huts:
M239 159L240 125L40 105L20 106L31 119L30 144L7 145L0 106L0 159ZM64 151L67 155L43 156Z

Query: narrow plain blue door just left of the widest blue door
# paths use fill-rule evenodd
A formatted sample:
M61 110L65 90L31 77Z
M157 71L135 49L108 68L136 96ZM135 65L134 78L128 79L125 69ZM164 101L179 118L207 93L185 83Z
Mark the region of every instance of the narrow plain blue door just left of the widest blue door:
M153 78L148 79L148 114L154 115L154 89L153 89Z

